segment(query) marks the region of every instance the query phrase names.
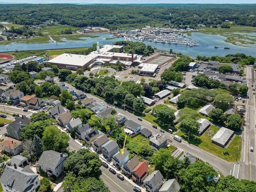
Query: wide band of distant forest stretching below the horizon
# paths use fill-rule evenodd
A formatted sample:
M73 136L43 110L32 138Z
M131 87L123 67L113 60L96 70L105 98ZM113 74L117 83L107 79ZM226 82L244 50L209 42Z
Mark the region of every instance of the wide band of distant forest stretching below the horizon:
M47 20L75 27L110 30L144 26L195 28L232 24L256 26L256 4L1 4L0 20L38 25Z

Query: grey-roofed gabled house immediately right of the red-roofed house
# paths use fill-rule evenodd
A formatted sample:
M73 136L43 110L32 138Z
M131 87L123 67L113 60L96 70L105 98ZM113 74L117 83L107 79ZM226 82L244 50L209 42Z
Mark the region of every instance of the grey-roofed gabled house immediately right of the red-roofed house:
M162 186L163 178L159 170L152 172L152 174L148 175L143 181L146 190L149 192L158 192Z

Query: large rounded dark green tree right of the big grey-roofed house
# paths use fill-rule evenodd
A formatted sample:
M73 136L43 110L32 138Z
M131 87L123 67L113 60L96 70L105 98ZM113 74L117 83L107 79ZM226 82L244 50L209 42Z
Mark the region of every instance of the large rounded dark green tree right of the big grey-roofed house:
M66 173L73 172L75 176L83 178L95 177L101 175L100 166L102 165L99 156L90 150L78 150L76 153L68 156L64 162L64 171Z

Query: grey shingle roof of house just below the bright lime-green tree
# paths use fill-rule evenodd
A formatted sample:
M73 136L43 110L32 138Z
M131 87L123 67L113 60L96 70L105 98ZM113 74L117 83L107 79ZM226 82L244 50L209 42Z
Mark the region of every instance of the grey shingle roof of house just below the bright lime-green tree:
M63 161L68 157L65 153L63 153L62 156L63 157L60 156L59 152L53 150L44 151L38 160L38 164L55 170L60 161Z

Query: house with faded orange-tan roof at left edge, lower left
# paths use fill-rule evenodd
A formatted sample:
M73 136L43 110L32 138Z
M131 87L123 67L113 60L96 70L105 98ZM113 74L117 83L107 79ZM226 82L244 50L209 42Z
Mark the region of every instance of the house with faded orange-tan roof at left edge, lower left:
M11 155L18 155L22 152L21 141L8 137L7 140L0 142L1 151Z

